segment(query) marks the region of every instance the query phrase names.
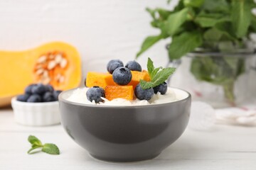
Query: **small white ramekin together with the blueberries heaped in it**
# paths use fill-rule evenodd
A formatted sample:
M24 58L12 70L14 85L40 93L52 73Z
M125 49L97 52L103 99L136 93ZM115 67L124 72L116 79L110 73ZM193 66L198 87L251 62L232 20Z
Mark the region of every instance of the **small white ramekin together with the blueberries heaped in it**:
M24 94L11 99L16 123L29 126L46 126L60 123L58 95L50 84L31 84Z

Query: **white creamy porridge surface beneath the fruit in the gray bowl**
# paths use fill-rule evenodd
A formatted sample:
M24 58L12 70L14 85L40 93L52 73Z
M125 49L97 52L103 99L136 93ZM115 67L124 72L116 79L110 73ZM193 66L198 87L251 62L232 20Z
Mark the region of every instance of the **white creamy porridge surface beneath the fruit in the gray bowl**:
M129 101L123 98L115 98L112 101L108 101L107 98L102 98L104 102L95 103L94 101L90 102L87 100L86 91L89 88L78 88L73 91L67 100L72 101L75 103L82 103L82 104L100 104L105 106L142 106L142 105L149 105L149 104L159 104L159 103L170 103L173 101L179 101L183 98L186 98L188 94L185 91L181 91L179 89L168 88L166 94L161 95L160 93L154 94L154 96L149 100L142 100L140 101L136 98L133 101Z

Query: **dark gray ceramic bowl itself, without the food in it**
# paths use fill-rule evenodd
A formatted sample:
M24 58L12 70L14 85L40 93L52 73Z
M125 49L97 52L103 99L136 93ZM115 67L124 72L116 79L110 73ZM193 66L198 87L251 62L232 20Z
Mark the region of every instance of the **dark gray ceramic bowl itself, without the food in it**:
M74 89L73 89L74 90ZM100 106L67 101L59 96L61 123L75 142L97 159L137 162L158 156L185 130L191 95L180 101L147 106Z

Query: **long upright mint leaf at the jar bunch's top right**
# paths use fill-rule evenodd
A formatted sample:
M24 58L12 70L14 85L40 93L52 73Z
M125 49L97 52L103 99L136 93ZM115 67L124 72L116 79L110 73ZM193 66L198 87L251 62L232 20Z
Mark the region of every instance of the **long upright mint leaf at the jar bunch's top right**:
M232 1L231 18L235 35L237 35L238 38L244 37L250 26L250 2L248 2L248 0Z

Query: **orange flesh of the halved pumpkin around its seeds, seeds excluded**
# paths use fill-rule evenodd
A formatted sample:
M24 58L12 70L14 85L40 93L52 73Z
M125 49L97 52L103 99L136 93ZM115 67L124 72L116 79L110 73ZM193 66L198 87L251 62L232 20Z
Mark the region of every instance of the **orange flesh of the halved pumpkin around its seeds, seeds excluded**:
M58 84L53 82L49 82L49 84L52 84L57 90L67 90L79 86L82 73L78 51L65 42L49 42L26 51L0 51L0 98L23 94L28 84L41 82L36 75L35 67L38 58L48 52L62 52L65 55L65 60L68 61L67 66L61 69L61 74L65 79ZM53 79L54 75L49 75L49 77Z

